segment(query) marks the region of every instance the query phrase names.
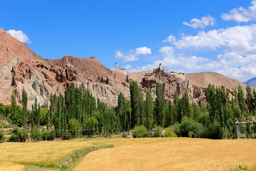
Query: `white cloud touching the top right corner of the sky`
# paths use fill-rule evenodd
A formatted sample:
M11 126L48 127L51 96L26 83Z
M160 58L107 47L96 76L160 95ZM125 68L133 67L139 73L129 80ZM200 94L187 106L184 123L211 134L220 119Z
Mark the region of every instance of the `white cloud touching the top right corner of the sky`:
M256 0L251 2L251 6L248 9L239 7L238 9L232 9L229 11L229 14L222 14L221 18L223 20L233 20L236 22L248 22L256 19Z

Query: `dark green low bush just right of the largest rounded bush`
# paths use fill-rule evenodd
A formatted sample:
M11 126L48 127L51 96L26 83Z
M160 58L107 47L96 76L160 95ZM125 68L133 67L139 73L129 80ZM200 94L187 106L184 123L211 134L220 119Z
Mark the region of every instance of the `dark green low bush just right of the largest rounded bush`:
M211 125L210 127L206 127L202 131L201 137L205 139L222 139L222 131L220 125Z

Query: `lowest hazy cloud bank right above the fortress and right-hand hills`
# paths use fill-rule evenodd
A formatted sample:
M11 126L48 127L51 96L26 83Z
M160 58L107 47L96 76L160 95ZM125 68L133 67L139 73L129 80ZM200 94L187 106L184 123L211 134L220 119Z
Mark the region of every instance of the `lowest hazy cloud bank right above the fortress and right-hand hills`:
M138 66L131 71L147 71L157 68L159 63L176 72L202 72L212 71L225 75L226 77L235 78L242 82L256 77L256 55L242 56L233 51L217 55L216 59L209 59L194 55L184 55L175 52L175 48L171 46L161 47L159 50L163 58L155 60L152 64Z

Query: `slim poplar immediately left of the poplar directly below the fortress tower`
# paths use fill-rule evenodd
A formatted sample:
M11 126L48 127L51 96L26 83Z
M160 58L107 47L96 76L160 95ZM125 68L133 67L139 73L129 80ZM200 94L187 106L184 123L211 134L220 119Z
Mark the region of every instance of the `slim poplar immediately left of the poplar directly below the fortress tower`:
M146 90L146 101L145 101L145 114L146 114L146 121L145 126L148 130L152 128L152 121L153 121L153 110L154 110L154 101L151 94L150 89Z

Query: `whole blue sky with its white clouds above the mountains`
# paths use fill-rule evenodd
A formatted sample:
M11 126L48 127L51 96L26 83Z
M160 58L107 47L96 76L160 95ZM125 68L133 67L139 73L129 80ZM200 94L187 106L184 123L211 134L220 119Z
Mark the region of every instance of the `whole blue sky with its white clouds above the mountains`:
M96 56L136 72L256 77L256 0L0 0L0 27L47 59Z

